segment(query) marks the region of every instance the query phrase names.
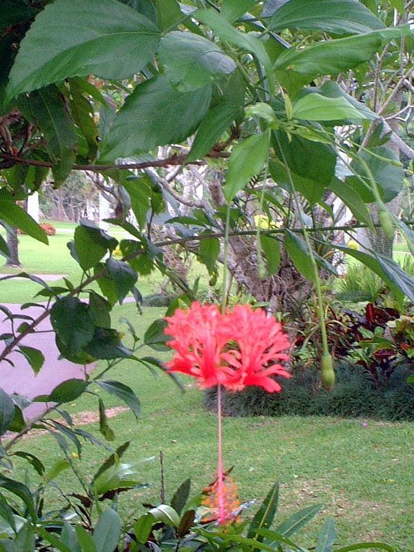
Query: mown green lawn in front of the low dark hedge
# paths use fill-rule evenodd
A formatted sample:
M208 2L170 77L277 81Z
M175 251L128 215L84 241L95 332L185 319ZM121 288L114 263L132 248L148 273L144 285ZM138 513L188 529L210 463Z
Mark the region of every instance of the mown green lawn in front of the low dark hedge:
M148 323L163 315L162 308L146 308L139 315L132 304L127 304L116 307L112 319L124 332L126 324L117 321L119 317L128 318L140 336ZM128 335L125 339L128 344ZM137 355L168 358L168 353L146 348ZM103 363L96 370L100 368ZM131 520L145 511L143 502L159 503L160 451L168 498L187 477L192 479L194 493L201 491L212 480L217 462L217 419L215 413L205 411L202 392L192 380L181 377L185 387L181 393L168 375L160 371L155 377L130 360L113 368L108 377L135 391L141 400L141 416L135 420L130 411L119 410L108 420L116 440L107 444L115 448L130 441L124 462L155 457L137 464L137 478L148 483L148 488L123 493L119 499L121 515ZM92 385L92 392L96 395L88 394L69 404L68 412L74 417L83 413L83 420L91 420L97 413L98 397L106 408L125 406L97 385ZM97 422L83 428L103 440ZM223 420L224 464L235 466L233 480L240 499L257 501L246 515L253 515L277 480L281 484L278 520L297 509L323 504L315 522L302 531L303 546L311 546L317 529L326 517L333 516L337 540L342 544L383 540L400 552L413 550L413 442L414 424L408 422L295 416ZM29 437L21 443L21 449L41 457L47 468L63 456L48 435ZM70 444L72 449L75 452ZM82 460L75 462L90 478L106 455L98 446L85 444ZM61 473L57 483L66 491L81 492L69 471ZM55 489L49 496L53 504L63 505Z

